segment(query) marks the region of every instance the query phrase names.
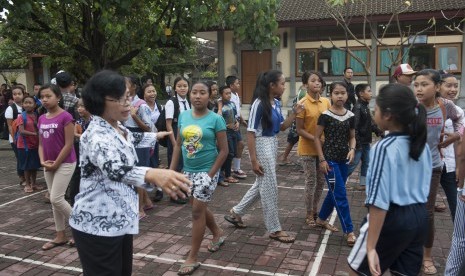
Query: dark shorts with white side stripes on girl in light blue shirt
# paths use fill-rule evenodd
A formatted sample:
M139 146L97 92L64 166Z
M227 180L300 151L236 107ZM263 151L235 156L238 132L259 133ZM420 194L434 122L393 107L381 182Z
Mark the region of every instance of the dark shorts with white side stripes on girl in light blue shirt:
M347 261L358 275L371 275L367 259L368 216L360 228ZM391 204L376 244L381 274L387 269L393 275L418 275L423 260L423 244L427 231L426 205Z

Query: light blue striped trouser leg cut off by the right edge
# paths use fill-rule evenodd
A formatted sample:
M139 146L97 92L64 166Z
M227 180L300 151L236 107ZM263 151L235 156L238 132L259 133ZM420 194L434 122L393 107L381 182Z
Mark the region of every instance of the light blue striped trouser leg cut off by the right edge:
M459 194L458 194L459 195ZM457 197L458 197L457 195ZM459 270L465 261L465 202L457 198L455 210L454 234L449 257L447 257L444 275L459 275ZM462 274L463 275L463 274Z

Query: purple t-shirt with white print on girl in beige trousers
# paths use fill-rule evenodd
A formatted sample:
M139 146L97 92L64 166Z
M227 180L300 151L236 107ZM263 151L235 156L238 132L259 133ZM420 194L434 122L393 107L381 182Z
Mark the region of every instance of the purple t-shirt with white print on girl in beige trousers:
M66 111L53 118L47 118L45 114L39 117L37 127L42 139L44 161L57 159L61 149L65 146L65 126L71 123L73 123L73 116ZM76 152L73 145L73 149L63 160L63 163L74 162L76 162Z

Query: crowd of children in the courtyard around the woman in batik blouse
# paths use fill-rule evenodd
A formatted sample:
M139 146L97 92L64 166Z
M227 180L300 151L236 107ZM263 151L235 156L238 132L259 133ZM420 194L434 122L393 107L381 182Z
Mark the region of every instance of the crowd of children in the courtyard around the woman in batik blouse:
M299 136L297 153L305 174L306 224L338 231L327 221L336 209L347 245L354 246L348 258L349 265L360 275L381 275L387 269L402 275L416 275L422 267L426 274L436 273L431 258L434 203L441 177L448 177L444 176L443 167L446 165L446 173L456 167L455 163L453 168L450 168L450 162L444 164L442 149L455 144L458 151L463 144L458 143L463 134L463 111L447 99L456 95L453 88L448 88L457 86L453 86L456 78L427 69L416 73L415 93L401 84L383 86L376 98L374 118L368 108L371 100L369 85L355 87L358 102L350 111L344 107L348 99L345 83L333 82L328 99L321 95L325 82L320 73L305 72L302 82L307 93L296 100L293 112L284 120L277 100L285 89L283 74L270 70L259 76L247 125L248 149L256 181L225 219L238 228L246 227L242 216L260 198L269 237L284 243L295 240L282 230L278 219L275 170L276 135L295 120L295 132ZM193 183L190 198L192 249L179 271L181 275L190 274L199 267L197 255L206 227L213 233L209 251L219 250L224 243L223 231L208 209L216 185L227 186L227 183L236 183L236 178L246 176L240 170L244 147L240 135L240 124L244 120L240 115L240 102L237 103L240 84L236 77L228 77L226 83L219 88L213 83L195 83L189 91L189 82L180 77L174 83L175 96L164 110L170 169L182 169ZM129 82L127 86L131 93ZM137 114L142 108L137 106L139 99L132 95L130 117L134 121L134 131L144 132L144 125L151 125L149 131L155 131L153 125L161 108L155 99L152 102L152 90L154 86L150 84L143 89L144 104L149 107L149 123L141 124ZM12 91L14 107L7 109L5 117L12 134L10 142L18 158L18 174L25 182L24 190L40 189L36 175L43 167L50 192L57 234L42 249L72 243L64 231L71 212L64 194L76 166L74 139L86 130L91 115L80 101L77 111L81 119L73 124L72 116L59 105L62 96L54 85L42 86L38 92L46 110L41 116L38 116L33 97L24 96L21 87L13 87ZM439 92L444 98L438 97ZM127 102L124 99L118 103L125 106ZM158 115L154 114L157 110ZM446 122L447 119L450 121ZM14 131L16 125L18 130ZM444 129L447 139L442 140ZM384 131L388 132L387 136L370 149L372 132L381 135ZM153 149L148 149L149 155L150 150ZM450 150L452 153L446 152L449 158L463 155L454 154L454 148L449 147ZM145 154L145 149L144 153L138 153L141 154ZM357 238L345 184L360 161L359 189L366 189L368 215ZM462 175L457 177L463 180ZM454 184L443 184L443 187L449 190ZM319 209L324 186L328 193ZM446 195L454 215L457 195L453 192L446 192ZM464 208L459 206L463 213ZM458 271L463 263L463 257L457 254L462 249L460 240L465 235L462 232L460 227L454 230L452 260L448 261L446 269ZM403 235L399 236L399 233Z

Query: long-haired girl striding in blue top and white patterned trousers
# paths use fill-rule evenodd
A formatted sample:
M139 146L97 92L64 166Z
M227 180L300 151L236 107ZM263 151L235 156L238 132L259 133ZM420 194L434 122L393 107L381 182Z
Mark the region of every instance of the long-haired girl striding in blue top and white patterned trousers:
M252 107L247 126L247 144L252 168L257 175L254 185L247 191L241 202L224 218L238 228L246 227L242 216L260 198L263 207L265 227L271 239L292 243L295 238L282 231L278 218L278 183L276 179L276 158L278 139L276 134L291 126L295 114L303 110L297 104L284 121L280 98L285 89L285 78L281 71L270 70L260 74L255 86Z

